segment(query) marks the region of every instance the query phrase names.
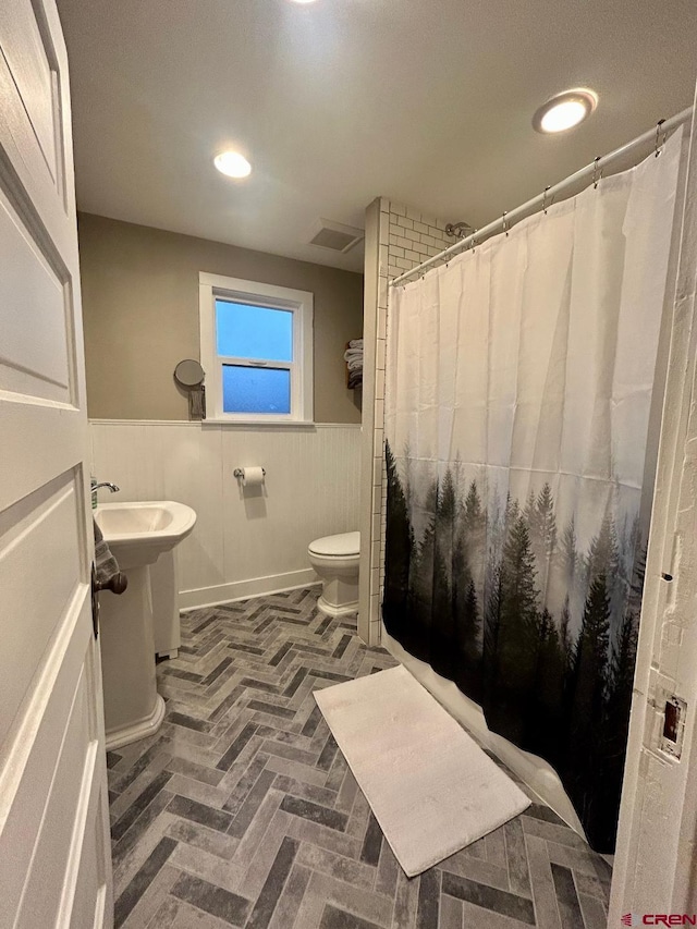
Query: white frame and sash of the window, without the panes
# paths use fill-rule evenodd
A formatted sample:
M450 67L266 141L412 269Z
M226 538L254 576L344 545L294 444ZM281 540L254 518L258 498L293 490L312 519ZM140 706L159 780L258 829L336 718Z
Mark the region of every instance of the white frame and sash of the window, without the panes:
M206 371L207 421L218 423L313 423L313 323L314 297L309 291L296 291L258 281L244 281L201 271L198 276L200 317L200 360ZM293 314L293 360L235 358L219 355L216 339L216 300L230 300L250 306L290 310ZM255 368L288 368L291 371L291 412L283 414L225 413L222 402L223 365Z

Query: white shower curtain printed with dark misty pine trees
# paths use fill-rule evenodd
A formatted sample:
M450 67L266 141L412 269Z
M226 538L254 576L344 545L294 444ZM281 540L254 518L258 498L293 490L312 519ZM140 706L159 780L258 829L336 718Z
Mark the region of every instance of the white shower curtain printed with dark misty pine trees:
M386 628L554 767L601 852L632 699L680 136L390 294Z

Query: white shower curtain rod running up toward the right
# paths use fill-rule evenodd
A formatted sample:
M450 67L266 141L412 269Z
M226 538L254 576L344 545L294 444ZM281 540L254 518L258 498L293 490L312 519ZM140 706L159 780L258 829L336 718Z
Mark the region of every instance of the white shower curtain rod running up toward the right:
M463 248L466 248L468 245L473 243L480 244L480 240L487 239L492 235L494 232L503 231L504 229L510 229L511 224L518 219L523 219L526 216L531 216L537 207L545 206L548 207L552 205L552 200L557 196L557 194L561 194L564 191L567 191L570 187L574 187L580 181L584 181L586 178L595 178L600 180L602 175L602 171L613 161L617 161L625 155L628 155L635 148L640 148L643 145L646 145L649 142L656 140L656 150L659 151L660 146L665 142L665 135L672 130L677 129L677 126L687 122L692 117L693 108L687 107L686 110L683 110L681 113L677 113L674 117L671 117L669 120L661 120L658 125L653 129L647 130L643 135L637 136L632 142L627 142L625 145L622 145L620 148L615 148L614 151L611 151L609 155L603 155L602 158L596 158L595 161L591 161L590 164L586 164L585 168L580 168L574 174L570 174L563 181L560 181L559 184L554 184L552 187L546 187L543 193L538 194L536 197L533 197L531 200L523 204L516 209L511 210L511 212L504 212L503 216L494 219L493 222L490 222L488 225L484 225L481 229L475 230L472 235L467 235L465 239L461 239L458 242L455 242L454 245L450 245L448 248L439 252L438 255L433 255L431 258L427 258L426 261L421 261L420 265L417 265L415 268L412 268L411 271L405 271L403 274L400 274L399 278L394 278L394 280L390 281L390 286L396 286L398 284L407 281L409 278L414 277L414 274L420 274L427 268L430 268L431 265L436 265L438 261L442 261L445 258L449 258L451 255L455 255L461 252ZM659 137L663 136L663 142L659 145Z

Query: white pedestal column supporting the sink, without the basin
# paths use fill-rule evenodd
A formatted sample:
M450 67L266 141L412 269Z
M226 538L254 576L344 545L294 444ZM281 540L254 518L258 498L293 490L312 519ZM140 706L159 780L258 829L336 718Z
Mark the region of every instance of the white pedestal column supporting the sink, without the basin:
M126 574L129 587L121 596L105 591L99 598L108 749L152 735L164 718L155 674L149 566L127 567Z

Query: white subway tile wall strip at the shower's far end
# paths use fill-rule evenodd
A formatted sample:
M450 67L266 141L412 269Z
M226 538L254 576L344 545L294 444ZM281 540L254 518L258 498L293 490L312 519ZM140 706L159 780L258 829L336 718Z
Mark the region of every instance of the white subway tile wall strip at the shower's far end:
M370 548L369 627L370 640L378 641L380 629L380 603L384 583L384 530L387 474L384 465L384 379L386 338L388 318L388 283L404 271L411 271L427 258L437 255L454 243L445 235L445 223L419 210L380 198L379 223L379 279L377 294L377 344L375 379L375 429L371 437L375 459L372 478L372 538ZM370 441L370 437L364 437Z

